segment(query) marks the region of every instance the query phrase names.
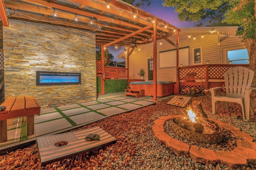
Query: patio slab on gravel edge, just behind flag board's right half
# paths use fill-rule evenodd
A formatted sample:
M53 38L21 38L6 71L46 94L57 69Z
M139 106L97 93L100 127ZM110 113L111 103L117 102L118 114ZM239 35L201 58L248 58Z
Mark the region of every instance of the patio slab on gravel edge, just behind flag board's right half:
M72 121L74 121L77 125L80 125L82 123L87 123L97 119L104 118L104 116L95 112L88 112L82 113L80 115L70 116L69 118L72 119Z

